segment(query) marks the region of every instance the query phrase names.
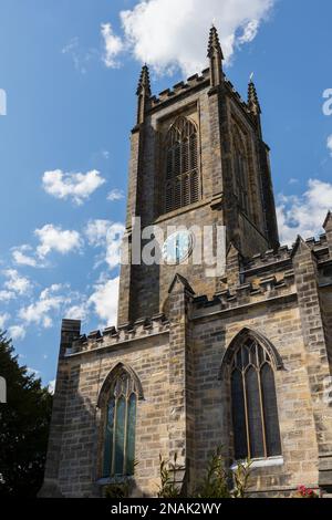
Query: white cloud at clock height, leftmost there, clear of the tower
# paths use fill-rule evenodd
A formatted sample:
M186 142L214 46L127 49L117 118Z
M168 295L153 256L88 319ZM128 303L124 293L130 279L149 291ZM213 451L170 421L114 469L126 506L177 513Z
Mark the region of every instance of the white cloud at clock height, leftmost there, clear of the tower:
M61 227L53 226L52 223L37 229L34 235L40 240L37 253L41 259L45 258L51 251L66 254L71 251L80 250L82 247L82 239L77 231L63 230Z

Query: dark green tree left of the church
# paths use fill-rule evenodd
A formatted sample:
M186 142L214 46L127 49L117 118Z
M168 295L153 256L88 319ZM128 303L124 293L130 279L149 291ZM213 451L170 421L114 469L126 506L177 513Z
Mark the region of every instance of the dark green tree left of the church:
M7 382L7 404L0 404L0 498L35 497L43 479L52 395L19 366L2 332L0 376Z

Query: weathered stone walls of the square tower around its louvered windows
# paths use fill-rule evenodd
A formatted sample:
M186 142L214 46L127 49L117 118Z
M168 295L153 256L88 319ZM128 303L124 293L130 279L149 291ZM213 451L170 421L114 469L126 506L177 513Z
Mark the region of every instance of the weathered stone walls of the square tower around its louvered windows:
M191 118L198 128L201 200L197 204L163 215L165 138L170 125L180 115ZM245 217L236 196L232 132L235 125L242 128L247 143L249 174L248 197L250 214ZM261 135L248 106L225 79L221 85L210 89L209 70L201 76L188 79L187 84L175 85L174 91L152 97L144 122L133 129L129 165L129 197L127 236L133 239L131 218L141 217L146 226L225 226L227 241L231 241L245 257L276 246L276 237L269 239L266 222L262 177L268 170L260 162ZM273 208L269 207L272 219ZM215 240L214 240L215 243ZM214 247L214 246L211 246ZM205 267L180 266L179 273L193 284L198 294L211 295L218 289L218 280L206 279ZM166 303L168 285L175 269L159 266L123 267L120 290L118 323L134 322L162 312Z

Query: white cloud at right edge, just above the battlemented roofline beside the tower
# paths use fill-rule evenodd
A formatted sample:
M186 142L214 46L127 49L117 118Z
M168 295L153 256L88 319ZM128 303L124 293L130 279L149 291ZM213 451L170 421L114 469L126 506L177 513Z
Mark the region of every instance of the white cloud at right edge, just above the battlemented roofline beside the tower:
M332 184L310 179L302 196L279 196L277 208L280 240L292 245L298 235L304 239L323 232L322 225L332 208Z

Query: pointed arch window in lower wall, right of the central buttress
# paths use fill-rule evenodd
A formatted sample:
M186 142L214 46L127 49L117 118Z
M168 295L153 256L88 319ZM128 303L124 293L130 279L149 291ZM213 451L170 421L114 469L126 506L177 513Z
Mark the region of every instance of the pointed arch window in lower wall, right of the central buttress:
M268 352L248 340L231 365L235 458L281 455L274 373Z

